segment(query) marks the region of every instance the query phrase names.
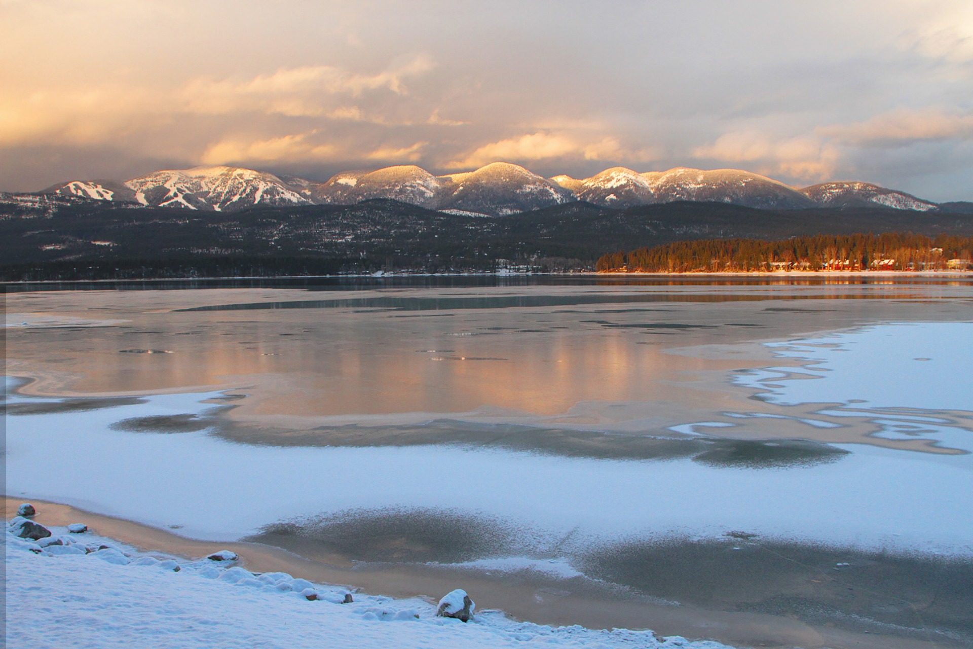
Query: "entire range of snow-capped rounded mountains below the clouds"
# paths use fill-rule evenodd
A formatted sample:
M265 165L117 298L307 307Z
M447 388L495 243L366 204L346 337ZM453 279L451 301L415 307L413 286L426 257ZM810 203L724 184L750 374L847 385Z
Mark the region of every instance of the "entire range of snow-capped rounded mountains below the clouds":
M544 178L508 162L493 162L475 171L443 176L434 176L413 164L342 171L323 183L238 167L198 166L156 171L124 183L75 180L54 185L42 194L217 211L258 204L354 204L391 198L427 209L490 216L573 200L614 208L674 200L725 202L763 209L939 208L928 200L862 182L831 182L797 189L739 169L676 167L639 173L621 166L590 178Z

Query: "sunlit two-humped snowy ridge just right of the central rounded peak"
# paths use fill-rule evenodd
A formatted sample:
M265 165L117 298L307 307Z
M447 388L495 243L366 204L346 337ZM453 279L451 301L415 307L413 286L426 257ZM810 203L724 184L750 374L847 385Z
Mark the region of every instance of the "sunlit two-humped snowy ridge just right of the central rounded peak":
M607 207L630 207L674 200L729 202L758 208L800 209L812 207L811 199L793 187L766 176L739 169L691 169L637 173L617 166L575 180L553 178L578 198Z

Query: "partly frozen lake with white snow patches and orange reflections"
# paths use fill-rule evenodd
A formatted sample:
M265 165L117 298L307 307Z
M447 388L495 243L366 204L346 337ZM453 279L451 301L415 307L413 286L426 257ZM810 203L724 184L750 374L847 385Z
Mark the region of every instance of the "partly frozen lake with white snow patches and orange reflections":
M968 280L431 283L10 294L7 494L523 616L973 638Z

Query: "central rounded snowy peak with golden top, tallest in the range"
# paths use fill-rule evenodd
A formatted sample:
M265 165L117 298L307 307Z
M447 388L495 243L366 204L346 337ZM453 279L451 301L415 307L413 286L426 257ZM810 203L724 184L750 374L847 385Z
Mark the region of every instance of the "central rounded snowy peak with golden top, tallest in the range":
M460 209L504 216L559 205L575 199L558 183L508 162L492 162L476 171L439 176L440 209Z

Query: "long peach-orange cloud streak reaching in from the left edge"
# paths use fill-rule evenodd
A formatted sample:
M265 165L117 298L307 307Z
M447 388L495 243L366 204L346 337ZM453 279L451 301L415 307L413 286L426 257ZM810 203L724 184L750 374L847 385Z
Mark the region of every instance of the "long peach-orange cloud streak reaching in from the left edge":
M410 124L395 114L401 104L389 109L380 102L372 102L375 105L366 112L359 105L362 102L352 100L367 90L404 96L408 92L406 82L432 67L428 56L418 55L404 65L371 75L319 65L282 68L272 74L242 80L198 77L173 88L117 81L100 81L90 86L49 86L44 90L10 88L0 93L0 146L98 145L117 142L126 136L144 141L147 132L163 125L172 126L187 117L226 117L221 130L225 131L223 137L227 142L210 147L205 154L208 157L215 155L214 151L229 152L251 146L234 140L232 132L226 131L244 122L252 126L255 114L401 126ZM422 122L429 109L419 102L412 110L414 118ZM198 154L198 143L193 137L180 137L177 133L165 139L167 148L151 153ZM276 143L266 146L253 143L255 151L266 152L268 147L283 146L276 140L266 140L271 141ZM177 142L182 150L172 151ZM271 159L275 160L267 153L258 158Z

